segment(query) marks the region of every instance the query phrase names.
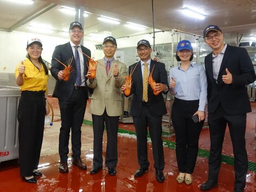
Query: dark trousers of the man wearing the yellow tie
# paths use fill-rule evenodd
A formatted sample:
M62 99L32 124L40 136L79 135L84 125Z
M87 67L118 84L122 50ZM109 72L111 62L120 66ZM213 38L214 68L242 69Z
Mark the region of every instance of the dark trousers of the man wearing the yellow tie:
M137 157L141 167L148 168L149 166L147 148L148 127L152 141L154 168L158 170L164 169L162 117L163 116L153 116L150 113L148 105L145 104L142 106L141 116L133 117L137 136Z

